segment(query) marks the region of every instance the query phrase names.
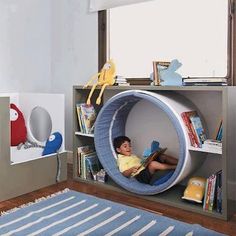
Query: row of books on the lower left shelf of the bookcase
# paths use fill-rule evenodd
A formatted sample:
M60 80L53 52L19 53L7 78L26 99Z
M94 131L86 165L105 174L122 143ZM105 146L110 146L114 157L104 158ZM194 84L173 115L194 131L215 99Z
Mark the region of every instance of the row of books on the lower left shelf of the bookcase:
M77 148L77 175L83 179L106 182L107 174L99 162L93 146Z

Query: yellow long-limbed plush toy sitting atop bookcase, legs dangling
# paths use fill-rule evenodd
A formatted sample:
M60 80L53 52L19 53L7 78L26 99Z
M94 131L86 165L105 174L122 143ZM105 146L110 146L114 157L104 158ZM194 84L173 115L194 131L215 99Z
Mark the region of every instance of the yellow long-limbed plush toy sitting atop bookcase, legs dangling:
M97 79L97 82L95 84L93 84L92 89L89 93L89 96L88 96L88 99L86 102L88 105L91 104L91 97L92 97L93 92L94 92L97 85L102 86L102 88L101 88L101 91L100 91L98 98L96 100L96 104L99 105L101 103L101 97L102 97L102 94L103 94L106 86L113 85L115 83L115 71L116 71L116 67L115 67L114 62L112 60L109 60L104 64L101 71L99 73L97 73L96 75L92 76L92 78L84 86L84 88L87 88L88 86L90 86L92 84L92 82L95 79Z

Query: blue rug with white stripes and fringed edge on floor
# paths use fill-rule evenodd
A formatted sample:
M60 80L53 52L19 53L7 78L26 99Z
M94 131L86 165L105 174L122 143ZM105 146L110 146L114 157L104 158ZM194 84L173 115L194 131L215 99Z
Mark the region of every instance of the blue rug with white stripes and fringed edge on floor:
M0 235L222 235L66 189L0 217Z

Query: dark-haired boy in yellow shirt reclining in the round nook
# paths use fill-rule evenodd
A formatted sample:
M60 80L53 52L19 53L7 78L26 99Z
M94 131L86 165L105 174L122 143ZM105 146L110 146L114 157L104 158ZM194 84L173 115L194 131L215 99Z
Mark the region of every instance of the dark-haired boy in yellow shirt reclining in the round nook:
M118 153L117 165L125 177L135 177L139 182L150 184L153 174L158 170L175 169L178 160L162 154L157 161L150 161L145 166L142 159L132 153L131 140L127 136L116 137L113 141Z

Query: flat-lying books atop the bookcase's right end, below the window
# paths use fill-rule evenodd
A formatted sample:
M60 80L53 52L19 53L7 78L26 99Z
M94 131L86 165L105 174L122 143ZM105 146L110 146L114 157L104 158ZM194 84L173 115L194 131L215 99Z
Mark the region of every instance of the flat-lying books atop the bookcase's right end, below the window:
M226 78L185 78L184 86L227 86Z

